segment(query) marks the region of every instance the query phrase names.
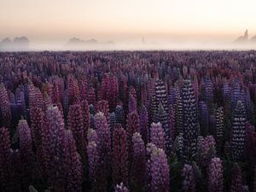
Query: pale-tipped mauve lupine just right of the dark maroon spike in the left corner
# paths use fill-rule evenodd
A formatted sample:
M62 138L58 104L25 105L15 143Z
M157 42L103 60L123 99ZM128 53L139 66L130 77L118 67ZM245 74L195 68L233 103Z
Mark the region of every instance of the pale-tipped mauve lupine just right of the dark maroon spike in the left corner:
M26 120L20 120L18 125L20 141L20 171L22 188L27 189L32 184L33 158L32 136Z

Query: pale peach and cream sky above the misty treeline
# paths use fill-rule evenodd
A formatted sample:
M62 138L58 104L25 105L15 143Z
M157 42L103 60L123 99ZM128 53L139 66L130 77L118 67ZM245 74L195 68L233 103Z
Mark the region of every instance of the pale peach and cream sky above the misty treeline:
M233 39L256 35L255 0L0 0L0 38Z

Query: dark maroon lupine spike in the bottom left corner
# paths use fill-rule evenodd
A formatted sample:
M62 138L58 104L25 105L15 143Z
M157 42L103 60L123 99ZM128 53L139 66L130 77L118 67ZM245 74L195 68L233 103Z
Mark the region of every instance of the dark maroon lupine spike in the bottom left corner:
M10 148L10 138L8 129L0 128L0 178L3 191L19 192L20 183L15 179L13 153ZM12 162L14 164L12 164Z

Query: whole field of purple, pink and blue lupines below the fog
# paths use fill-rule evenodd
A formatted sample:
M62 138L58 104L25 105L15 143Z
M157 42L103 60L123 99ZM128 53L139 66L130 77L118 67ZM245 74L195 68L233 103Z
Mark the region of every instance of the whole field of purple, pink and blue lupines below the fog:
M3 192L256 192L256 51L0 53Z

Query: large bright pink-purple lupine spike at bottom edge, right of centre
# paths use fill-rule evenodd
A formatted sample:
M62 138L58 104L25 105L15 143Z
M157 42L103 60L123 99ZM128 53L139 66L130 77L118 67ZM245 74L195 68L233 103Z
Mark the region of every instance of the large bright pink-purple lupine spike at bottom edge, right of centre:
M151 191L169 191L169 165L165 151L154 148L150 157Z

